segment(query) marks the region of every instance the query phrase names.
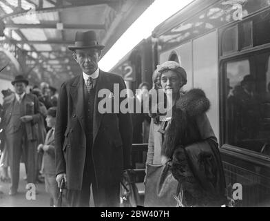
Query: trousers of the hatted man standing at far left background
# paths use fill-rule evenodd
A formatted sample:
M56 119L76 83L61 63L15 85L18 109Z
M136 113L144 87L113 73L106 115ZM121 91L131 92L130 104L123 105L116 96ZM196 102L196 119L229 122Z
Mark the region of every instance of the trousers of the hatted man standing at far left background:
M11 172L12 191L17 191L19 186L19 171L21 155L25 160L25 170L27 170L28 183L36 183L36 161L37 161L37 142L27 140L23 130L6 135L6 142L9 148L9 162Z

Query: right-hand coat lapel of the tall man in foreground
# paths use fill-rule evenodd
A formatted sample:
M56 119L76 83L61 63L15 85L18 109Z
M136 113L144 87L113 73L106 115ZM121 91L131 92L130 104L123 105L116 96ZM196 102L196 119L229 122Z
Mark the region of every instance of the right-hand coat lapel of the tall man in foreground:
M107 88L106 87L106 79L102 70L99 70L99 77L96 84L96 95L94 99L94 122L93 122L93 144L94 140L96 139L96 135L98 134L99 127L101 126L101 119L103 114L99 113L98 111L98 104L103 99L103 97L98 97L98 91L101 89Z

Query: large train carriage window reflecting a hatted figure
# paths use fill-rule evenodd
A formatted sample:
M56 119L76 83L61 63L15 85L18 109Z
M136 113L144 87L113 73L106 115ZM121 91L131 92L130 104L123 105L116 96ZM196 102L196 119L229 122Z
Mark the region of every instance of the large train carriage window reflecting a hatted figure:
M225 63L226 143L264 155L270 155L269 55Z

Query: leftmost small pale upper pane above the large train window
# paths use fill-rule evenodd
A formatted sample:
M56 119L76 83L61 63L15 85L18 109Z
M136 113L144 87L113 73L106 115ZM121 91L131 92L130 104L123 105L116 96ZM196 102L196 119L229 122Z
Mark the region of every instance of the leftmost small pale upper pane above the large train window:
M222 35L222 54L238 50L238 26L227 28Z

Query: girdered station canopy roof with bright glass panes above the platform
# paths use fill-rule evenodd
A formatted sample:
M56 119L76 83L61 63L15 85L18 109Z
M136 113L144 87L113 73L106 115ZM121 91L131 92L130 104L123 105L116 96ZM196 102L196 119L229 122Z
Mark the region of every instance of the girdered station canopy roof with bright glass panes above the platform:
M6 28L0 46L20 48L26 55L17 58L23 73L54 84L54 79L80 72L67 49L76 31L95 30L98 43L105 45L104 55L153 1L1 0L0 19Z

